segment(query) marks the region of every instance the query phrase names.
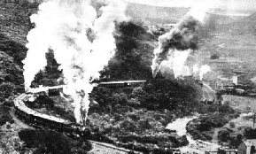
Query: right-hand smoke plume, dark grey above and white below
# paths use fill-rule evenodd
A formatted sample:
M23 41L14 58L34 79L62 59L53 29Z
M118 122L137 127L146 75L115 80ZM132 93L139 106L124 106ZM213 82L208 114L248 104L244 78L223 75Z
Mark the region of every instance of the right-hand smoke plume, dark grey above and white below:
M151 65L153 77L157 75L161 65L171 68L175 78L188 76L195 72L203 73L201 69L188 65L187 60L194 50L198 50L205 14L206 9L191 8L190 12L173 29L159 36L159 47L154 50L155 57ZM199 75L203 76L203 74Z

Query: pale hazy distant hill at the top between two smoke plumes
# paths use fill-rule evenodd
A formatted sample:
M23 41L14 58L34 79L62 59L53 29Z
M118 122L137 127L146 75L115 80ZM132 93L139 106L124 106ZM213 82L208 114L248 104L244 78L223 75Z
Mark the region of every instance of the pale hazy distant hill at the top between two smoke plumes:
M159 7L146 4L128 4L127 15L135 21L143 21L150 25L176 23L189 8Z

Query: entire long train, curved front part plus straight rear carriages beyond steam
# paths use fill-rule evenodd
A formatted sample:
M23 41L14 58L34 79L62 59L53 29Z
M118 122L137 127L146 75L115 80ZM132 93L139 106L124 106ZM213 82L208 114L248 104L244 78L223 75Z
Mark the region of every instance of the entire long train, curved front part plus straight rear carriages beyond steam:
M196 78L198 84L203 87L203 83ZM127 86L144 86L146 81L111 81L101 82L98 86L118 88ZM46 115L28 108L24 102L33 102L37 96L57 96L66 86L55 87L39 87L38 89L29 89L26 93L21 94L14 99L14 108L16 116L33 127L48 128L58 132L64 132L67 135L74 136L89 136L89 127L84 127L80 124L70 122L65 119L59 119L54 116Z

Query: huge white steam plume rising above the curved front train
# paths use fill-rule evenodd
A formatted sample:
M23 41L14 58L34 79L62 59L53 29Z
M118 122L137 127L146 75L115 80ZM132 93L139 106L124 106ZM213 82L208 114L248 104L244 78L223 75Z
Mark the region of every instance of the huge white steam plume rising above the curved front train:
M46 65L45 53L54 50L68 85L66 92L74 98L75 118L80 123L81 111L89 110L88 94L93 88L89 81L99 76L98 72L114 54L114 21L127 19L126 4L118 0L101 3L105 5L97 17L90 0L47 1L31 16L35 28L27 35L27 58L23 61L25 88ZM89 30L95 36L93 41L87 36Z

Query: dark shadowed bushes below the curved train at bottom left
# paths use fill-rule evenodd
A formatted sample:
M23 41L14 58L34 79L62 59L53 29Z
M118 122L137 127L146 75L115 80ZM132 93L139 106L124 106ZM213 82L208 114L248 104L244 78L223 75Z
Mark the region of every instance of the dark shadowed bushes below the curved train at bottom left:
M58 132L24 129L19 131L19 138L33 153L81 154L91 149L87 141L69 139Z

